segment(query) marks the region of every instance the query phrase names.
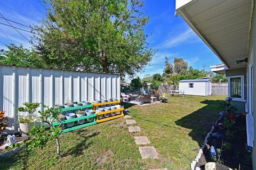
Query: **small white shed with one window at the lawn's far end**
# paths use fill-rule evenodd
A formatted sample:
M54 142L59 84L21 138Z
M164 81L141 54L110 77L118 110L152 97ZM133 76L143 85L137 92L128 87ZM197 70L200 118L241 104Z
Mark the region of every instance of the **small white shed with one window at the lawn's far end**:
M179 81L179 91L184 91L185 95L211 96L211 79L194 79Z

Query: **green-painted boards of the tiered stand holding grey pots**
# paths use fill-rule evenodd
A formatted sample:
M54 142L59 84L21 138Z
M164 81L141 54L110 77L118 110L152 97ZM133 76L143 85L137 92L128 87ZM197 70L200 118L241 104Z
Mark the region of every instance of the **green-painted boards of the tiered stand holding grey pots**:
M83 106L76 106L76 107L69 107L69 108L62 108L62 109L60 109L59 112L72 111L72 110L83 109L83 108L88 108L88 107L92 109L93 104L83 105ZM77 121L84 120L84 119L87 119L87 118L92 118L92 117L93 117L92 122L85 122L84 124L78 124L77 123ZM91 125L97 124L96 117L97 117L97 114L94 113L92 115L76 117L76 118L72 118L70 120L65 120L65 121L60 121L60 122L53 122L53 127L57 128L59 125L63 124L64 126L63 126L63 129L60 133L66 133L66 132L70 132L70 131L74 131L74 130L77 130L77 129L84 128L86 126L91 126ZM70 122L76 122L76 123L72 127L65 128L65 124L70 123Z

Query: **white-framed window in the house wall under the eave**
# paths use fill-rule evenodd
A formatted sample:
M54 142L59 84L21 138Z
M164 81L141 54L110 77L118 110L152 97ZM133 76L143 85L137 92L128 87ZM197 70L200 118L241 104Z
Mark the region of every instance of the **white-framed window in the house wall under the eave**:
M228 78L229 97L233 97L234 100L244 99L244 76L236 76Z

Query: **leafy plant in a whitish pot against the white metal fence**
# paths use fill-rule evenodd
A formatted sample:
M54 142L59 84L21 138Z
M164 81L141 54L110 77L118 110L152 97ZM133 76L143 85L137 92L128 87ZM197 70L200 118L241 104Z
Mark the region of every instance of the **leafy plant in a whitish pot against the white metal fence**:
M20 131L23 134L28 134L34 126L36 118L36 109L39 107L39 103L24 103L25 107L19 107L19 112L27 112L26 116L19 114Z

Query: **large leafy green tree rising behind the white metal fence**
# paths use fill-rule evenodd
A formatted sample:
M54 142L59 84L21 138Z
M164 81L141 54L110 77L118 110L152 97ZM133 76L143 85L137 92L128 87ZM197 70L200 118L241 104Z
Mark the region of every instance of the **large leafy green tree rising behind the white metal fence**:
M47 0L34 44L48 65L133 75L151 60L139 0Z

